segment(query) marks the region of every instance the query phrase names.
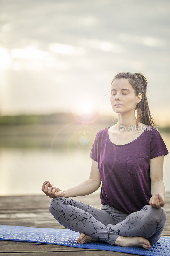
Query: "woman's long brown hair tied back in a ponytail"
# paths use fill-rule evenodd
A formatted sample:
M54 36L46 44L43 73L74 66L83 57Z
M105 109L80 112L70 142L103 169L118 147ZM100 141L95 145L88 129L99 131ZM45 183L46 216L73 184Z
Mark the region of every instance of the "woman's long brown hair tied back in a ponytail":
M137 124L138 122L141 122L145 125L150 125L153 128L155 128L156 124L150 113L147 96L146 96L146 90L148 86L147 79L140 73L122 72L114 76L111 82L111 85L115 79L121 79L121 78L128 79L129 83L132 85L135 91L135 96L138 96L139 93L142 94L142 99L139 103L137 103L135 108L135 110L137 111L137 117L136 117Z

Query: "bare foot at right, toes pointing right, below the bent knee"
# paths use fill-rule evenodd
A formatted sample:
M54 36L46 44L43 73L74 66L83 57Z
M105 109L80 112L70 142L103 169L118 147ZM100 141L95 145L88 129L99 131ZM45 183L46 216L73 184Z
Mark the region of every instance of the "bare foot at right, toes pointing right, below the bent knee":
M125 247L143 247L144 249L150 249L151 245L147 239L142 236L127 237L119 236L114 245L125 246Z

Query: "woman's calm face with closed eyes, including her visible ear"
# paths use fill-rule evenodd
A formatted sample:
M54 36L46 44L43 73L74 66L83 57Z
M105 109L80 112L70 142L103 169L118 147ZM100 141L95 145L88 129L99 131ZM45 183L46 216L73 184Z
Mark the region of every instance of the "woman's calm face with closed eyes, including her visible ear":
M124 113L130 110L135 111L137 103L142 99L142 94L135 96L135 91L128 79L115 79L111 85L110 102L112 109L116 113ZM115 104L122 104L115 106Z

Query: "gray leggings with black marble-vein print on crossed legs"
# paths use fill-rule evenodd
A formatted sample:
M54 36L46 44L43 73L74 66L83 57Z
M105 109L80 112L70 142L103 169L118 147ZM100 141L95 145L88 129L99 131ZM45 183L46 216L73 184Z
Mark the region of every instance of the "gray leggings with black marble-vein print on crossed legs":
M49 212L65 228L111 245L119 236L142 236L154 244L161 237L166 223L166 212L150 204L128 215L108 205L101 205L99 209L71 198L54 197Z

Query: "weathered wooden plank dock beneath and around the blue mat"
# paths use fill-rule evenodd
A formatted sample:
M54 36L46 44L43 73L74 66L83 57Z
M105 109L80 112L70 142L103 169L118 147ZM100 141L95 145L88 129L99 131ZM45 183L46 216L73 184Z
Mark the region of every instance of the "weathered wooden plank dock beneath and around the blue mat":
M78 201L100 208L100 194L72 197ZM165 194L166 225L162 236L170 236L170 193ZM44 195L0 196L0 224L38 228L65 228L50 214L51 198ZM135 254L105 250L81 249L55 244L0 240L0 256L134 256Z

